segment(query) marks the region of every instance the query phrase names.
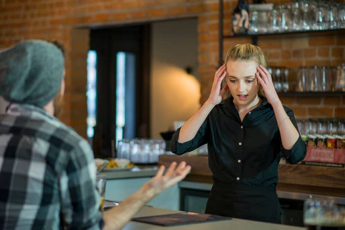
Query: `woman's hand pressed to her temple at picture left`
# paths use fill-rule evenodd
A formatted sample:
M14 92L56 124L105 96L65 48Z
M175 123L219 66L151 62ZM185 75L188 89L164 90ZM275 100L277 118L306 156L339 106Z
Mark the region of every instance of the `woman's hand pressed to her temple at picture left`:
M213 105L219 104L222 101L223 94L228 90L228 85L220 89L222 80L226 76L226 66L222 65L214 74L214 80L212 83L211 93L208 96L207 101Z

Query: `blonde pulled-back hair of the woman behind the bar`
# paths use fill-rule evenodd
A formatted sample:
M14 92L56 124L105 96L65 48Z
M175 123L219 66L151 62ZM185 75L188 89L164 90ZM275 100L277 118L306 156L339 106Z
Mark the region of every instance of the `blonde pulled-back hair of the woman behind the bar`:
M264 52L262 52L261 48L256 45L252 45L249 43L244 43L244 44L237 44L233 47L231 47L226 54L225 57L225 62L224 64L226 65L228 61L237 61L237 60L242 60L242 61L255 61L259 65L264 66L265 68L267 67L266 65L266 60L265 60L265 55ZM226 78L223 79L222 81L222 87L226 86ZM262 86L260 85L259 87L259 96L265 97L264 92L262 91ZM230 91L226 91L223 98L229 98L231 96Z

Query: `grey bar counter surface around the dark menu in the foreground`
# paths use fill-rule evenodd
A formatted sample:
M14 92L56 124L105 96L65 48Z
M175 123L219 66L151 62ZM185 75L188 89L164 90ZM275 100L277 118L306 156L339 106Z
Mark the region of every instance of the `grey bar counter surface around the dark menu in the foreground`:
M178 213L179 211L173 211L168 209L160 209L144 206L139 210L135 217L164 215L171 213ZM187 224L163 227L158 225L145 224L141 222L130 221L123 230L305 230L306 228L294 227L287 225L278 225L271 223L264 223L258 221L249 221L243 219L233 218L226 221L213 221L198 224Z

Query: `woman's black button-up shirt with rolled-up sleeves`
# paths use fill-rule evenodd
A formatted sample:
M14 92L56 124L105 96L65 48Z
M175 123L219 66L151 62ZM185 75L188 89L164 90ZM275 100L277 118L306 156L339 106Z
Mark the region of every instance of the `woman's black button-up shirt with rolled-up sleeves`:
M284 109L298 129L293 111ZM306 155L301 136L290 150L282 147L276 116L266 98L242 122L233 98L224 99L211 110L192 140L178 143L179 131L173 134L172 152L182 155L207 143L213 180L227 184L276 186L281 154L291 164Z

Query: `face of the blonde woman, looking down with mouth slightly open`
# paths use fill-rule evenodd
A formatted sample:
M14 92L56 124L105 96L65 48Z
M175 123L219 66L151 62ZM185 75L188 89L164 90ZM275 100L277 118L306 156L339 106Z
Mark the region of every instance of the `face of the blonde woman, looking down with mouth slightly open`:
M257 103L260 86L255 77L257 66L255 61L229 60L226 63L226 82L236 105L251 106Z

